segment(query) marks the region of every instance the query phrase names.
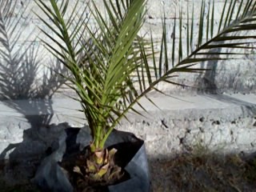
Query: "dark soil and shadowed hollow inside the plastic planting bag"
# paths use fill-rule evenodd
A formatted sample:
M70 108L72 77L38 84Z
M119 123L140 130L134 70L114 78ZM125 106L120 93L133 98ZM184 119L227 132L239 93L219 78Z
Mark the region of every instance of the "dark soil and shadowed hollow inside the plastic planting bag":
M134 154L138 152L141 145L141 142L121 142L107 147L108 151L114 148L117 152L114 154L114 161L110 162L110 173L105 174L100 181L91 179L90 175L86 173L86 160L90 156L89 146L86 146L82 151L76 150L77 152L64 155L59 165L74 186L75 192L109 191L108 186L130 179L130 174L124 168L134 157ZM79 171L74 171L74 167Z

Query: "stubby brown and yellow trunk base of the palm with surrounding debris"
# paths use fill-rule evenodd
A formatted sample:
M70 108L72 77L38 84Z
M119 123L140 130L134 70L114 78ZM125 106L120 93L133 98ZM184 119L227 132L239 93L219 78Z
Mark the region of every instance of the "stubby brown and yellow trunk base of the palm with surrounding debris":
M69 162L62 163L62 166L70 172L70 180L73 181L77 191L83 191L90 186L110 186L114 183L129 178L126 171L114 162L114 154L117 152L114 148L111 150L90 152L86 148L86 153L80 153L76 156L75 166L69 165Z

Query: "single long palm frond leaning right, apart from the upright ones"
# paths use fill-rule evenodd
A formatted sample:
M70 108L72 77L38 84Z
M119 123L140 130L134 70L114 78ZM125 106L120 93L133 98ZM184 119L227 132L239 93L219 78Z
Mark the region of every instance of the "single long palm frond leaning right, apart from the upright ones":
M130 106L126 106L126 110L123 111L122 115L126 114L128 110L135 110L133 108L134 104L138 104L139 99L146 96L146 94L148 94L151 90L156 90L159 93L163 94L161 90L157 89L157 85L159 82L168 82L173 85L184 86L182 84L179 84L178 82L174 82L173 78L177 77L177 75L181 73L200 73L204 71L204 69L196 67L198 63L209 62L213 60L228 60L232 59L232 56L240 55L241 53L239 51L241 50L254 49L247 46L249 43L253 42L253 39L255 38L254 35L242 36L237 33L245 30L256 30L256 3L252 0L247 1L246 6L243 6L243 3L243 1L239 3L237 1L231 1L230 5L227 8L228 2L226 0L225 5L223 6L221 18L218 21L218 31L215 34L214 1L209 5L209 7L211 8L209 8L208 12L206 13L207 19L204 19L206 2L202 1L198 29L196 29L196 27L194 26L195 16L193 4L192 15L190 15L189 11L187 11L187 31L185 38L187 50L186 58L183 58L185 54L183 54L184 51L182 48L182 14L179 14L180 18L178 30L176 29L176 19L174 19L172 53L169 53L168 47L166 46L166 23L165 20L163 20L161 50L158 55L154 54L153 58L150 58L148 54L146 54L146 52L141 49L141 55L144 61L142 62L143 64L141 73L137 74L140 93L134 92L134 100L129 102ZM235 6L239 7L236 13L234 11ZM189 10L188 7L187 10ZM181 12L182 10L180 11L180 13ZM191 18L191 23L189 23L188 18ZM195 31L198 33L198 38L196 39L194 39ZM179 38L178 42L176 43L175 37L178 36L177 33L179 34ZM245 39L246 42L242 42ZM152 39L151 42L152 48L154 48L154 43ZM195 46L194 48L193 45L196 44L195 42L197 43L197 46ZM222 51L223 48L230 49L230 52ZM175 58L175 49L178 50L178 58ZM168 58L166 58L167 54ZM229 58L220 57L222 55L228 56ZM158 65L155 63L156 58L159 58ZM169 58L171 59L171 66L169 66L168 63ZM150 67L150 60L153 60L152 66L154 67ZM159 67L156 68L155 66ZM154 74L154 77L152 77L151 74ZM151 78L155 78L155 80L152 82L150 81ZM145 79L147 79L148 81L146 81ZM118 121L122 118L122 115L120 115Z

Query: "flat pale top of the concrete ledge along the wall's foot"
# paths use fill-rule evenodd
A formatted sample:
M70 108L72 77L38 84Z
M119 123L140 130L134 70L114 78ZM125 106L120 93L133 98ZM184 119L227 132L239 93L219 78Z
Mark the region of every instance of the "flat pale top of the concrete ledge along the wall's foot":
M256 105L255 94L202 94L202 95L152 95L150 97L162 110L184 110L184 109L223 109L234 106ZM155 111L157 107L145 98L141 100L146 110ZM70 98L47 100L18 100L11 102L0 102L1 116L22 116L36 114L78 114L80 104ZM22 113L23 112L23 113Z

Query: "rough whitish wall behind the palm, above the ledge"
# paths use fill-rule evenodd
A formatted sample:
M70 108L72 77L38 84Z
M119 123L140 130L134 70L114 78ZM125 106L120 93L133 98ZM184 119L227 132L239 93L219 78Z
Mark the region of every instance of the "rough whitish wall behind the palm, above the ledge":
M86 6L86 0L81 0L81 6ZM102 1L94 1L102 9ZM221 15L224 1L215 1L215 24L218 25L218 19ZM39 21L34 14L43 15L42 11L38 9L35 2L32 0L0 0L0 98L46 98L55 90L62 86L61 78L53 73L50 73L50 68L58 70L58 72L66 73L65 69L58 64L58 62L48 54L43 48L41 40L46 39L38 27L46 29L46 26ZM6 4L7 3L7 4ZM183 20L183 35L186 34L186 6L192 6L191 1L183 1L182 18ZM7 8L5 9L5 5ZM72 6L72 4L70 4ZM146 15L146 23L143 26L142 34L153 31L154 39L161 38L162 28L162 14L166 12L167 33L169 34L168 45L171 48L175 12L178 13L181 3L177 0L150 0L147 4L148 13ZM199 7L201 0L194 1L195 20L194 26L198 26ZM237 9L238 7L235 7ZM206 3L206 10L209 9ZM34 11L34 13L33 13ZM205 25L206 26L206 25ZM217 28L217 27L215 27ZM49 31L49 33L51 33ZM194 36L198 35L195 32ZM176 37L178 41L178 35ZM186 47L186 40L183 39L183 47ZM250 51L250 50L248 50ZM171 49L170 49L171 53ZM177 51L176 51L177 53ZM177 78L178 82L186 83L189 86L197 86L211 90L211 92L241 92L252 93L255 92L255 77L256 67L254 65L254 57L242 56L241 59L230 60L228 62L202 63L202 67L213 69L206 74L182 74ZM187 94L191 89L184 89L182 87L159 85L163 90L171 93ZM198 89L192 89L197 92ZM63 89L61 91L64 91ZM67 91L69 92L69 91ZM58 94L54 94L55 96Z

